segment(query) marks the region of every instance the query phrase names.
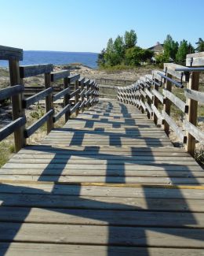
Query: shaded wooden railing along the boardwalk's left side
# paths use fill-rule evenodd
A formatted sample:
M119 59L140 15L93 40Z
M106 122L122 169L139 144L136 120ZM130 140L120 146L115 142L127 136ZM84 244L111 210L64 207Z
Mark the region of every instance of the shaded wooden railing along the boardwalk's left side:
M13 121L0 129L0 141L14 132L15 150L18 151L26 145L26 139L42 126L47 124L49 133L54 123L65 115L68 121L72 113L78 115L85 107L93 106L98 102L99 87L95 80L87 80L80 75L70 75L69 70L53 72L53 65L26 65L20 66L23 59L23 50L0 46L0 60L9 61L9 74L11 87L0 90L0 100L12 98ZM44 74L45 90L24 98L24 78ZM56 80L64 80L64 89L53 95L53 83ZM75 90L71 91L71 84L75 84ZM42 98L46 98L46 113L31 126L26 127L27 119L25 109L35 104ZM53 102L64 98L64 108L55 114Z

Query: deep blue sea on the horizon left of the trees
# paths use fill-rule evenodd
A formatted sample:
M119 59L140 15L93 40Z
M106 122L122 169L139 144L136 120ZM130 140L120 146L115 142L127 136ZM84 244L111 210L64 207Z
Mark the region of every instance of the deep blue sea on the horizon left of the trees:
M97 53L75 53L63 51L24 50L24 61L20 65L35 65L50 63L53 65L64 65L70 63L81 63L90 68L97 68ZM8 61L0 61L0 67L8 67Z

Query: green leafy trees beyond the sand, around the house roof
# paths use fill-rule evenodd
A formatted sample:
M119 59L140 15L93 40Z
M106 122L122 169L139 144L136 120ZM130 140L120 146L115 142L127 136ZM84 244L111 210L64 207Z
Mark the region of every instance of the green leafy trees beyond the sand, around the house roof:
M184 64L187 54L204 51L202 38L195 44L196 48L185 39L178 43L171 35L167 35L163 43L164 50L161 54L155 55L155 61L158 65L169 61ZM126 31L124 36L118 35L115 40L108 39L106 49L101 50L98 55L98 65L104 68L115 65L137 66L150 62L153 56L152 50L137 46L137 33L130 30Z

